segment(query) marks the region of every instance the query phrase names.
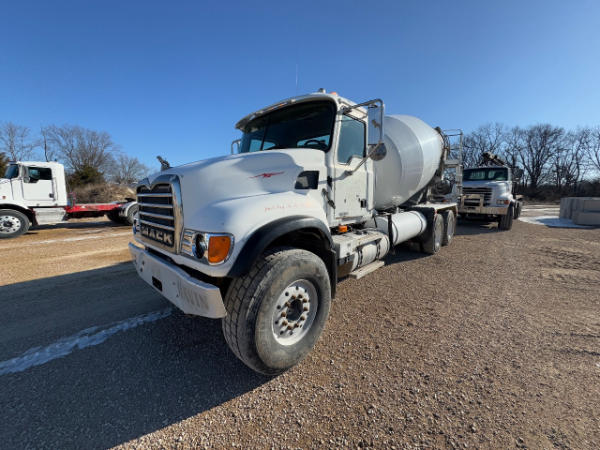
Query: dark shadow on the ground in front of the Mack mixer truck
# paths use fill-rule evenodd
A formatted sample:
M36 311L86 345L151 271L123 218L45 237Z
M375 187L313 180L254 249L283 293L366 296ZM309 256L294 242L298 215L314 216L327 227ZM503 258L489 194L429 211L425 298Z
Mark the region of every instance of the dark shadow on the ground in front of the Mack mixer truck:
M131 264L13 284L0 288L0 299L0 325L7 325L0 332L0 368L31 347L44 350L57 337L73 336L76 329L97 325L97 333L157 306L169 308ZM26 310L17 306L21 303ZM5 448L112 447L269 380L233 355L220 321L173 310L98 345L0 375L0 442Z

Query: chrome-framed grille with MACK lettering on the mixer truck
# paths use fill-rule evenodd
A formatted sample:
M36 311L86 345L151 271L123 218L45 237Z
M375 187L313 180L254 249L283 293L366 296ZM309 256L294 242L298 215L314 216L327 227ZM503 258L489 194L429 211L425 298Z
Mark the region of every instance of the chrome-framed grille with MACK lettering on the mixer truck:
M167 180L169 182L156 180L152 186L138 186L140 233L148 243L177 252L180 241L178 219L181 217L179 183L177 177Z

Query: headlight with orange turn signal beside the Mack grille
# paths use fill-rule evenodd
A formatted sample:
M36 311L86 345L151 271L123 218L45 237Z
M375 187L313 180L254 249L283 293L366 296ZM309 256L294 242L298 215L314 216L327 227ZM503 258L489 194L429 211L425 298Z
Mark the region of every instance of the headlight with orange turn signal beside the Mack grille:
M228 233L203 233L184 230L181 253L210 265L223 264L233 249L233 236Z

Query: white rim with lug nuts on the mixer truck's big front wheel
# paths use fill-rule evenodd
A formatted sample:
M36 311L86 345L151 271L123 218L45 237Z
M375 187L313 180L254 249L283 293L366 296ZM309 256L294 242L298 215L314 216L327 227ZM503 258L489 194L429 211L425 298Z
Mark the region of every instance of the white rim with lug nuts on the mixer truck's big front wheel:
M271 331L278 344L293 345L310 331L319 296L315 285L305 279L290 283L277 298L273 307Z

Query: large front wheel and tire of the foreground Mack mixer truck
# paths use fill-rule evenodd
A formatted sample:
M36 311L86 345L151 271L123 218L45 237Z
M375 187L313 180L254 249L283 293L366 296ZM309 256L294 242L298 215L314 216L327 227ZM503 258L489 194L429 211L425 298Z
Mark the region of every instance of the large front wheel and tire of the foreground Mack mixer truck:
M251 369L277 375L314 347L329 316L331 286L314 253L278 248L232 281L225 295L223 335Z

